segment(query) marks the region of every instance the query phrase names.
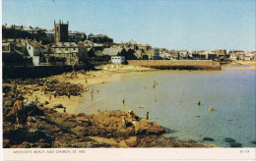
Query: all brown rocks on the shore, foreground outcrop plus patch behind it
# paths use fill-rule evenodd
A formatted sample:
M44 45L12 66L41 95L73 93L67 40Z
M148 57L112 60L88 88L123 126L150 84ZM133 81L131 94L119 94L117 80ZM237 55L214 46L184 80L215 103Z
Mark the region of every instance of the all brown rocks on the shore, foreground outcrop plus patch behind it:
M163 127L140 116L135 116L136 122L130 121L125 111L74 114L64 111L68 106L36 101L54 91L58 91L56 97L67 99L67 95L79 97L85 86L56 78L3 80L4 148L205 147L161 136L166 133ZM41 94L34 96L33 92ZM19 126L12 114L18 98L25 98Z

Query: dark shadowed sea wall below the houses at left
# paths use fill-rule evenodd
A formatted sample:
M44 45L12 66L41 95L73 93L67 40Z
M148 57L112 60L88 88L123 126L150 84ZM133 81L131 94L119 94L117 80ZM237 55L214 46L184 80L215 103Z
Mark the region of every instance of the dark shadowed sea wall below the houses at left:
M78 70L91 70L94 67L90 65L77 65L74 67ZM64 66L16 66L16 67L3 67L3 79L34 79L43 78L53 75L63 74L64 72L73 71L71 65Z

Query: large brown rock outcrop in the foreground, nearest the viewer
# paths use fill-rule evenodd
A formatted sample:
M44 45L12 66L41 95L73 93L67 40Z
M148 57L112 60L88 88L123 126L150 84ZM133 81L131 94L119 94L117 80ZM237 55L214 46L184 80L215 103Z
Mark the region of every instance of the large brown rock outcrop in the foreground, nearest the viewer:
M8 109L4 115L10 111ZM26 110L30 115L19 127L13 116L4 117L4 148L204 147L160 136L165 132L164 128L144 119L139 121L139 128L134 125L123 128L121 117L127 115L124 111L63 116L43 106L27 106ZM94 139L94 136L100 139Z

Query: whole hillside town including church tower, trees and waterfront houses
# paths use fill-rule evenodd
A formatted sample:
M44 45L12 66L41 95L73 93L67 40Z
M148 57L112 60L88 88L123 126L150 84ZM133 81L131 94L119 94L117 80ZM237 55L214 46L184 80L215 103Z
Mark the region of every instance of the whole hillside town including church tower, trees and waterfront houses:
M69 30L54 21L54 28L3 25L3 66L79 65L125 63L127 60L256 60L256 51L174 50L152 47L135 40L116 43L105 34Z

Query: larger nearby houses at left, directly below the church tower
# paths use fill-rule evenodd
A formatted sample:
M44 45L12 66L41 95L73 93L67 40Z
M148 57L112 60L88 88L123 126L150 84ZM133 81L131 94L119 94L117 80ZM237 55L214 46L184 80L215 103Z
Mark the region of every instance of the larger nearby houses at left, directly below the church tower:
M84 63L87 47L75 42L59 42L42 45L31 39L3 39L3 62L5 65L17 64L15 58L31 60L29 65L76 65ZM24 61L18 61L24 63Z

